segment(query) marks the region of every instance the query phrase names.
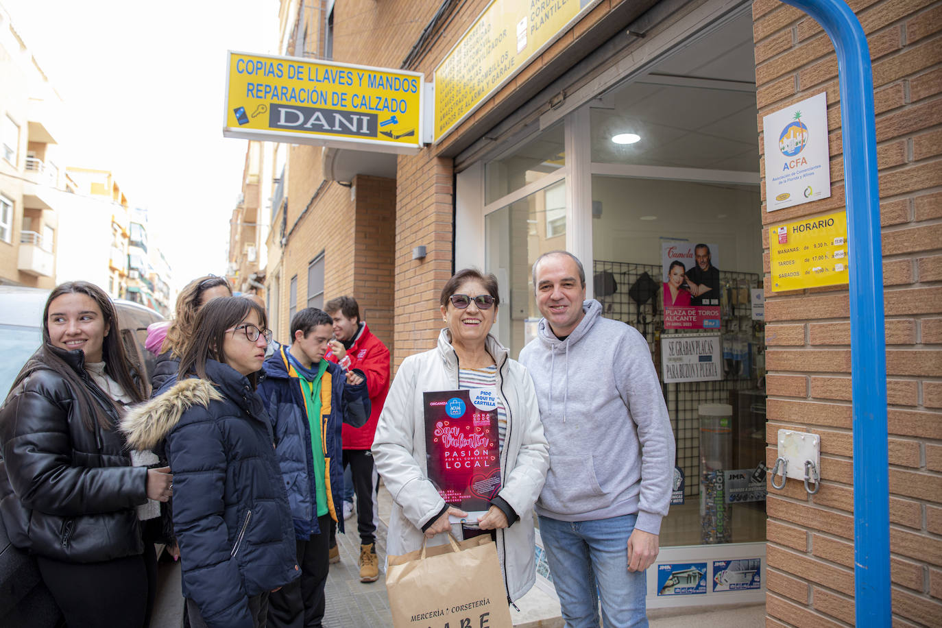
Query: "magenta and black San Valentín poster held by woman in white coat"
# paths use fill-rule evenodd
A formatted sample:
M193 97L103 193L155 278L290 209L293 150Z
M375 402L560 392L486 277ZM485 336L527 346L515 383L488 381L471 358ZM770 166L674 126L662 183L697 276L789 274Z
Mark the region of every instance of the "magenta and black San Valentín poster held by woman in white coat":
M429 479L448 504L481 513L500 491L493 388L423 394Z

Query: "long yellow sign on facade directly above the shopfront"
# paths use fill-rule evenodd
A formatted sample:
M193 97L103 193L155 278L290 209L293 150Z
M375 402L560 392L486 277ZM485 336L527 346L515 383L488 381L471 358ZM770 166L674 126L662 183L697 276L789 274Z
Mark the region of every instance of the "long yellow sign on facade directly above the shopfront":
M435 141L596 4L593 0L494 0L435 69Z

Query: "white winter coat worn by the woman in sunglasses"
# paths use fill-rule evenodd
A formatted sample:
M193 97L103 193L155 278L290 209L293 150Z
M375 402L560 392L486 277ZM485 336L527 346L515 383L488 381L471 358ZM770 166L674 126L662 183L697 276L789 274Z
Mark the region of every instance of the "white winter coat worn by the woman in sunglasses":
M497 530L497 556L508 596L517 600L533 586L536 577L532 509L546 479L549 445L527 369L511 360L494 336L488 335L486 346L497 364L497 395L507 411L498 495L520 516L510 527ZM393 497L386 545L389 555L421 548L422 526L445 507L445 500L428 478L422 394L457 390L458 368L450 332L442 330L436 348L402 362L386 397L373 441L373 459ZM461 526L453 525L452 533L460 535ZM446 535L440 534L429 544L445 542Z

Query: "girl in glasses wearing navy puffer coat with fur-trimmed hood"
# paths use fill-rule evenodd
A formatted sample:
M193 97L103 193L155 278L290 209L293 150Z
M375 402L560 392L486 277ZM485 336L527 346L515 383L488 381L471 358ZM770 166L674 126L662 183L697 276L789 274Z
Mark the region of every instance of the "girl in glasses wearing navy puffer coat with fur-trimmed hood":
M268 592L298 577L294 527L271 424L255 393L271 340L248 298L214 298L196 316L178 380L122 422L128 443L165 443L173 469L190 625L263 625Z

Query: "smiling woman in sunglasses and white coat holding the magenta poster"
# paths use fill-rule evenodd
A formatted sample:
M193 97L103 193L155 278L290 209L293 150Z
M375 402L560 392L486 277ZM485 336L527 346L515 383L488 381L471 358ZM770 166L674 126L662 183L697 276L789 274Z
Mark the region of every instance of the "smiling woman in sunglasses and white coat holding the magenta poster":
M423 394L493 387L496 397L501 487L476 527L497 543L508 601L533 585L533 504L549 466L549 445L540 423L527 369L510 358L490 334L499 303L494 275L465 268L442 289L447 327L438 346L405 359L393 380L373 441L373 458L393 496L386 551L400 555L462 534L449 523L468 514L449 506L429 479Z

